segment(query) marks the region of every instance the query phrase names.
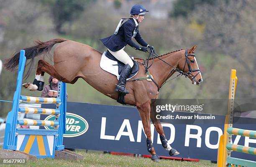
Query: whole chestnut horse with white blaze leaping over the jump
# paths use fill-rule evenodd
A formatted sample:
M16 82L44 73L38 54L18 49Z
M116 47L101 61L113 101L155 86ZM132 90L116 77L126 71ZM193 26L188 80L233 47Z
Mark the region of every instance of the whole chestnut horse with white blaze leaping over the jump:
M60 44L54 50L54 65L52 66L44 60L38 61L36 70L36 79L38 81L43 81L45 72L65 83L73 84L78 78L83 78L84 81L102 94L115 100L118 98L118 93L114 91L115 84L117 83L116 76L100 68L102 53L88 45L66 39L53 39L46 42L36 41L35 46L24 48L25 56L33 62L36 56L49 53L56 43ZM154 81L159 86L162 86L174 72L178 71L183 74L187 73L187 77L192 81L192 84L199 85L202 82L202 76L195 55L192 55L196 47L193 46L187 50L173 51L159 56L159 59L155 58L153 65L148 69ZM145 68L142 64L143 59L135 58L135 60L141 62L138 63L140 68L136 78L146 77L147 73L145 73ZM149 64L152 61L152 58L149 59ZM15 53L12 58L6 60L5 67L8 70L15 70L18 62L19 53ZM33 63L31 63L26 76L29 75L32 67ZM161 123L154 118L154 114L151 112L151 99L157 99L159 96L156 84L152 81L142 80L127 82L126 87L130 91L130 94L125 96L125 102L126 104L136 106L141 115L144 132L147 137L147 149L152 154L151 159L156 162L159 161L159 157L156 155L151 142L150 119L153 121L155 129L160 135L163 147L169 151L171 156L179 154L179 152L170 146L165 138Z

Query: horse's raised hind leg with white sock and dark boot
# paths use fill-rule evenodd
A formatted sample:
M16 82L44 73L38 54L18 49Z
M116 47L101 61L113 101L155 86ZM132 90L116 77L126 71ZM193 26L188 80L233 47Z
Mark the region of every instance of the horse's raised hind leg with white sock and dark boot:
M50 76L58 79L59 81L65 82L65 83L72 83L72 81L67 80L66 78L62 77L52 66L51 64L47 63L44 60L38 61L38 66L36 68L36 77L33 81L33 84L31 83L24 83L23 87L33 91L38 90L41 91L44 88L44 73L49 73Z

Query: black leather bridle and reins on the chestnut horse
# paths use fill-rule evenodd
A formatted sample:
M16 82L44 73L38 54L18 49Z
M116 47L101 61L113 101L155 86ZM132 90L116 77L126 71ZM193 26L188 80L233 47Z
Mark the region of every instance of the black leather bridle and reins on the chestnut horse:
M148 51L147 51L147 52L148 52ZM200 71L200 69L194 69L194 70L192 70L192 68L191 68L191 66L190 66L190 63L189 63L189 60L188 60L188 56L194 56L194 57L195 57L195 54L188 54L188 53L187 53L187 49L186 49L186 51L185 51L186 59L185 59L184 67L183 67L182 70L180 70L179 68L176 68L176 67L172 66L171 64L167 63L166 61L164 61L163 59L161 59L161 58L156 54L154 48L153 48L153 49L150 49L150 52L148 52L148 53L149 53L149 55L148 55L147 63L146 63L146 67L145 67L146 69L150 68L150 67L152 66L152 64L154 63L154 57L160 59L161 61L163 61L164 63L166 63L166 64L168 64L169 66L172 67L172 70L169 72L169 74L168 74L168 76L167 76L167 78L166 78L166 81L160 86L160 88L161 88L166 82L169 82L169 81L173 80L174 78L177 78L178 76L182 76L182 75L184 75L185 78L187 78L187 77L192 77L192 78L191 78L192 81L194 81L194 83L196 83L195 77L196 77L201 71ZM152 61L151 65L148 66L148 61L149 61L149 58L151 57L151 55L153 56L153 61ZM184 69L185 69L185 67L186 67L186 64L187 64L188 70L189 70L187 73L184 72ZM170 74L171 74L173 71L174 71L174 72L177 71L177 72L179 73L179 75L177 75L176 77L174 77L174 78L170 79L169 81L167 81L168 78L169 78L169 76L170 76ZM198 73L197 73L195 76L192 76L191 74L192 74L193 72L196 72L196 71L198 71Z

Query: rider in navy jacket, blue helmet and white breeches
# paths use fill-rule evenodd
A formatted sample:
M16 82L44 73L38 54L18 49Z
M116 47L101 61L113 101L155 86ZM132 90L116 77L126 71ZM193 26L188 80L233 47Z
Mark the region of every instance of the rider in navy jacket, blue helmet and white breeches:
M133 5L130 12L131 18L121 19L113 35L100 39L108 48L108 51L115 58L125 64L125 67L120 73L119 82L116 84L115 91L120 91L125 94L129 93L129 91L125 91L125 82L131 68L133 67L133 61L123 50L125 46L128 44L134 49L143 52L146 52L147 48L154 48L148 45L148 43L141 38L141 34L138 30L138 24L144 19L146 12L148 12L148 10L146 10L146 8L144 8L142 5ZM138 46L132 41L133 37L141 46Z

